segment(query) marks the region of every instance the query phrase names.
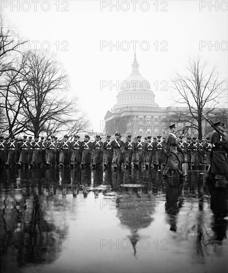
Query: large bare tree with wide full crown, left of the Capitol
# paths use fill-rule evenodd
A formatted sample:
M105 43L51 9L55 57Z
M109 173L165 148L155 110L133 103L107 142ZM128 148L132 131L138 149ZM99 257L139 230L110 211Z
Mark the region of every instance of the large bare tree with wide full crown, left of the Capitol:
M77 98L67 100L64 88L68 79L55 56L29 51L26 58L23 71L28 83L23 101L23 115L29 121L26 129L34 135L54 133L77 122Z

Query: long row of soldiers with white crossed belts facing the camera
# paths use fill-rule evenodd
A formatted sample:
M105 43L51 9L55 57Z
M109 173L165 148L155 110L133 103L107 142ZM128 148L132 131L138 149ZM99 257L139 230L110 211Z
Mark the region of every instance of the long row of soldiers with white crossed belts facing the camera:
M141 136L137 136L134 141L131 136L127 136L126 141L121 140L119 133L115 134L115 139L111 140L111 136L107 136L106 141L102 142L100 136L96 136L95 141L90 141L89 136L85 136L84 141L79 140L80 136L75 135L73 141L68 140L68 136L60 142L57 137L51 136L47 140L44 137L32 137L18 142L15 137L3 138L0 136L0 165L8 167L17 164L20 166L59 165L71 167L89 167L91 164L94 168L104 164L105 167L114 166L114 169L121 167L125 163L125 167L131 167L131 163L135 168L145 165L146 168L161 170L161 166L165 166L165 153L161 136L148 136L141 140ZM184 153L180 154L182 163L185 162L185 154L187 155L187 163L189 169L195 169L197 165L201 168L204 152L206 155L207 168L210 164L209 154L211 151L210 138L206 143L202 143L201 139L196 142L196 137L187 138L187 143L179 137L180 148Z

